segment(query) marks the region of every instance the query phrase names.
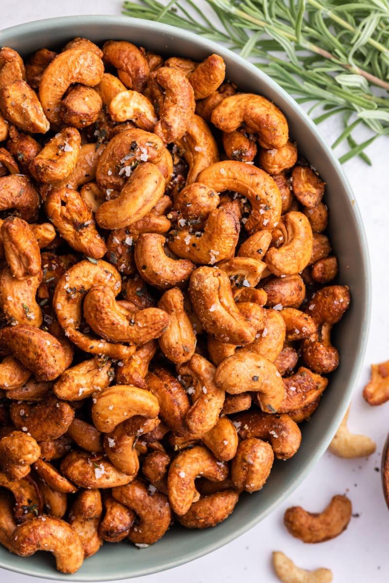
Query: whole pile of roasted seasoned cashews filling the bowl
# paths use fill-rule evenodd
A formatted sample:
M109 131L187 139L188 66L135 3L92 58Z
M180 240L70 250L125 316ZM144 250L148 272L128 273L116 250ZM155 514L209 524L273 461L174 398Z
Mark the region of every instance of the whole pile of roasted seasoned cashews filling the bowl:
M4 47L0 111L0 542L74 573L296 454L350 294L324 182L218 55Z

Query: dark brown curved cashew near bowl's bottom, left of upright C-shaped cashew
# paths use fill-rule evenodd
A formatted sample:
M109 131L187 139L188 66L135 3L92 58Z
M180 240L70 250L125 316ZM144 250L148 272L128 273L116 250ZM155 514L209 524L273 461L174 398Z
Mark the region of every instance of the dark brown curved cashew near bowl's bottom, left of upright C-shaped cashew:
M153 545L169 528L171 511L164 494L151 494L145 484L134 480L127 486L113 488L112 495L115 500L134 510L139 518L128 535L135 545Z

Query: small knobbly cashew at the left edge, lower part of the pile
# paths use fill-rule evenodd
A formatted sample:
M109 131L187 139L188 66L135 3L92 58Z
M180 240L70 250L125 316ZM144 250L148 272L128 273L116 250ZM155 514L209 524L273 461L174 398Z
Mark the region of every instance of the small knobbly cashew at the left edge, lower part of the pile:
M40 447L23 431L12 431L0 441L0 467L9 480L20 480L30 473L31 463L40 456Z

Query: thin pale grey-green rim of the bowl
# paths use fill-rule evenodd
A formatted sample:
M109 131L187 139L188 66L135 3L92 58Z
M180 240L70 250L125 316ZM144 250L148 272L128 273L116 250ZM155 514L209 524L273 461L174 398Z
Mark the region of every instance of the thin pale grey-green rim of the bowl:
M239 536L246 533L248 530L253 528L253 526L257 525L265 517L267 517L269 514L271 514L271 512L273 512L276 507L279 507L279 505L286 499L286 497L288 497L289 494L291 494L303 482L303 480L307 477L307 475L309 475L309 473L313 469L314 465L316 465L316 463L319 461L321 456L324 454L325 450L327 449L328 445L330 444L330 441L332 440L332 437L334 436L335 431L337 430L339 424L341 423L341 420L344 417L344 415L346 413L346 409L348 408L348 405L351 401L353 390L356 387L359 376L360 376L360 371L361 371L362 366L363 366L363 359L364 359L365 352L366 352L367 338L368 338L369 326L370 326L370 315L371 315L371 310L372 310L372 278L371 278L371 271L370 271L370 258L369 258L369 252L368 252L368 247L367 247L367 238L366 238L365 228L364 228L363 222L362 222L362 216L360 214L360 210L358 208L358 203L356 203L356 201L355 201L355 198L353 196L353 192L351 189L351 185L349 184L348 179L346 178L344 170L342 169L341 164L339 163L339 161L335 157L334 153L332 152L331 147L327 144L327 142L325 142L323 136L320 135L320 132L318 131L317 126L314 124L314 122L309 118L309 116L299 106L299 104L297 104L295 99L293 99L293 97L291 97L284 89L282 89L282 87L279 86L278 83L276 83L266 73L262 72L260 68L257 68L255 65L251 64L246 59L241 58L240 55L237 55L233 51L224 47L222 44L218 44L215 41L208 40L205 37L199 36L199 35L192 33L192 32L185 31L184 29L180 29L178 27L171 26L169 24L154 22L152 20L135 19L135 18L132 18L131 16L124 16L124 15L121 15L121 16L115 16L115 15L75 15L75 16L59 16L59 17L48 18L48 19L39 19L39 20L33 20L31 22L27 22L27 23L23 23L23 24L17 24L15 26L8 27L6 29L2 29L1 36L3 36L4 34L6 34L6 36L12 36L12 34L15 34L17 37L22 37L24 35L28 36L31 33L45 31L45 30L48 30L51 28L55 29L56 26L61 26L61 25L64 26L65 25L66 27L69 27L69 38L70 38L70 37L72 37L72 32L71 32L72 27L80 26L83 24L85 24L87 26L92 26L92 25L96 26L97 25L97 26L101 26L101 27L104 27L104 26L108 27L108 26L115 26L115 25L123 26L124 25L126 28L128 28L128 30L130 30L130 29L145 30L145 29L151 28L153 30L158 31L159 33L164 33L164 34L172 36L172 37L180 38L180 40L188 41L189 43L192 43L192 44L196 45L197 47L204 49L206 51L219 52L219 54L221 54L222 57L223 57L223 55L227 55L229 58L231 58L233 61L235 61L241 68L246 69L246 71L248 73L253 74L254 76L257 77L257 79L264 80L264 82L269 87L271 87L272 90L274 90L275 92L280 94L280 96L282 96L283 99L288 102L290 108L292 108L292 110L293 110L293 114L296 115L297 118L299 118L299 120L302 122L302 124L308 125L310 131L314 135L314 138L320 143L320 146L324 149L329 161L331 162L332 166L335 168L335 171L337 172L338 180L342 183L342 186L344 187L344 190L346 192L346 196L349 199L349 202L353 205L355 223L356 223L356 228L357 228L358 233L359 233L360 243L361 243L360 247L362 250L362 257L360 259L361 259L362 266L363 266L363 272L365 273L365 278L364 278L364 281L362 282L363 286L364 286L363 293L365 294L365 311L362 315L363 328L362 328L361 333L360 333L358 345L355 349L356 356L355 356L354 366L352 368L352 371L351 371L348 379L345 381L348 388L344 392L344 395L342 396L342 398L339 399L337 412L332 417L332 419L329 420L328 429L325 432L325 436L321 440L321 443L317 445L317 447L314 451L314 454L311 456L311 459L309 460L309 462L307 462L306 465L304 465L303 470L299 473L299 475L297 475L295 477L295 479L292 481L292 483L289 483L288 486L282 491L282 495L279 496L277 498L277 500L274 501L274 503L269 504L269 506L266 508L266 510L264 512L262 512L262 514L260 514L259 516L258 515L254 516L248 522L246 522L244 525L241 525L241 526L238 526L237 528L234 528L233 532L224 534L222 536L222 540L219 540L218 538L215 537L215 540L213 540L213 543L211 543L211 544L208 543L206 548L200 548L198 550L191 550L191 549L187 550L187 553L185 553L184 557L176 557L176 558L167 557L163 566L153 567L153 566L148 566L148 564L146 563L145 568L142 571L139 570L138 572L131 573L131 574L121 573L119 575L119 577L117 577L115 579L109 579L109 578L107 579L107 577L103 577L102 575L100 577L99 577L99 575L97 575L97 576L93 575L93 577L90 577L87 574L78 575L77 573L73 574L73 575L63 575L63 574L61 574L57 571L54 571L54 570L52 572L52 575L51 575L51 573L49 573L49 574L44 573L43 574L43 573L38 572L36 570L35 566L30 566L30 567L25 567L25 568L23 567L23 565L19 566L19 564L17 564L17 567L9 566L9 564L6 564L0 557L0 567L4 568L6 570L9 570L9 571L14 571L16 573L30 575L32 577L41 577L41 578L47 578L48 580L57 580L57 581L58 580L68 580L68 581L108 581L108 580L115 581L116 580L116 581L118 581L118 580L122 580L125 578L139 577L141 575L149 575L152 573L159 573L161 571L180 566L181 564L189 563L192 560L198 559L199 557L205 556L206 554L211 553L214 550L219 549L220 547L227 545L227 543L230 543L230 542L232 542L232 540L237 539ZM2 44L4 44L3 39L1 39L1 42L2 42ZM55 42L53 42L53 44L55 44Z

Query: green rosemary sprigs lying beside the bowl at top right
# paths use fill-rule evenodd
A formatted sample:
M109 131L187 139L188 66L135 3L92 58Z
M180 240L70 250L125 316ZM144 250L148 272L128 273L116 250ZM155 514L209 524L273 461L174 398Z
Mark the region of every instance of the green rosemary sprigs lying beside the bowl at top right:
M388 0L204 1L216 19L194 0L126 1L123 13L191 30L250 58L297 103L310 103L317 124L342 120L332 144L346 147L341 162L359 156L371 163L366 147L389 135ZM369 135L358 143L352 134L362 135L362 126Z

